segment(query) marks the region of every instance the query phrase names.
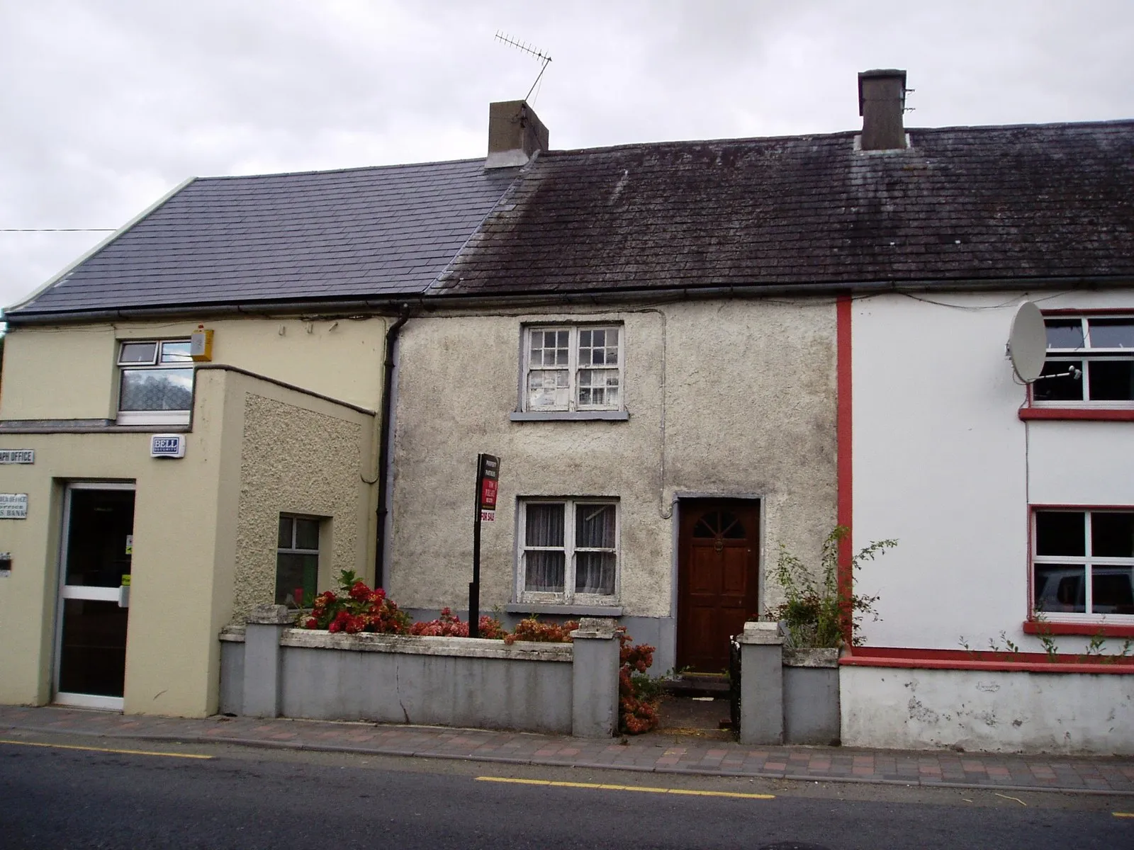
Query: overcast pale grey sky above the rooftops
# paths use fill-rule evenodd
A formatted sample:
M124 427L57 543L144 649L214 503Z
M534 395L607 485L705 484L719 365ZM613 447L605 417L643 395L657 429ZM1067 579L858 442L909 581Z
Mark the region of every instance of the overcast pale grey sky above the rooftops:
M1134 118L1132 0L0 0L0 305L192 176L482 156L498 31L556 148L854 129L888 67L911 126Z

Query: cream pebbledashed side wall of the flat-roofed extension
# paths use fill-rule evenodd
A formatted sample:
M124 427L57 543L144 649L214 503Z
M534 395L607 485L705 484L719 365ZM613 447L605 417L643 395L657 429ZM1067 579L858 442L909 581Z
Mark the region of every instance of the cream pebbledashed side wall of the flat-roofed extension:
M330 517L320 541L319 586L341 569L359 568L359 459L363 426L355 422L248 393L240 453L240 509L237 521L236 587L232 617L240 621L276 593L279 515Z

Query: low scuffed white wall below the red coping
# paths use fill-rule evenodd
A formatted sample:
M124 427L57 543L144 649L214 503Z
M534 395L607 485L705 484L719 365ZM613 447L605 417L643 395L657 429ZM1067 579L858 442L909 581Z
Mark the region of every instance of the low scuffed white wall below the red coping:
M1134 675L843 666L843 742L1134 754Z

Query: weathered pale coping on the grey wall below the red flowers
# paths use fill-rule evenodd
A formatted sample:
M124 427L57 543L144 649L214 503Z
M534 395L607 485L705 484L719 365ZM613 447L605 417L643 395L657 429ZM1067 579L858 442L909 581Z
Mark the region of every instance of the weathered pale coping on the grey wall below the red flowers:
M288 629L280 646L304 649L346 649L349 652L399 653L403 655L450 655L464 658L507 658L513 661L562 661L575 655L570 644L539 644L517 640L508 646L488 638L416 637L408 635L331 634L318 629Z

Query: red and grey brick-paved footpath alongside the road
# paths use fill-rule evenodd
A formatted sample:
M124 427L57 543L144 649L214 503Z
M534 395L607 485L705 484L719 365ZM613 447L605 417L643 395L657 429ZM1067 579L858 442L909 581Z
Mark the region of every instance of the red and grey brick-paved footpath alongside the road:
M706 776L1134 796L1134 758L1125 757L756 747L662 732L595 740L481 729L282 717L186 720L26 706L0 706L0 733L5 730Z

